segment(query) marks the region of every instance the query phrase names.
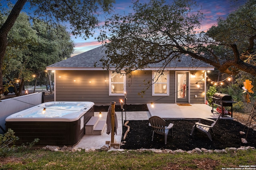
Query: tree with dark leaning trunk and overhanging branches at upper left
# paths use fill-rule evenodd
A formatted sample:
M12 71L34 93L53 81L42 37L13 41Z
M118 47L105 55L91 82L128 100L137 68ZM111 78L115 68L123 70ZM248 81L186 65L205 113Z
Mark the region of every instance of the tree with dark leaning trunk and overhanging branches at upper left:
M8 1L4 1L6 4ZM69 22L73 35L83 35L87 38L93 35L94 28L98 27L97 16L102 10L109 12L114 0L17 0L12 7L8 18L0 27L0 82L2 82L2 64L8 45L7 36L18 18L20 12L27 3L27 10L34 12L35 16L50 22ZM3 2L1 2L1 5ZM2 15L2 12L0 16ZM0 94L3 85L0 83Z

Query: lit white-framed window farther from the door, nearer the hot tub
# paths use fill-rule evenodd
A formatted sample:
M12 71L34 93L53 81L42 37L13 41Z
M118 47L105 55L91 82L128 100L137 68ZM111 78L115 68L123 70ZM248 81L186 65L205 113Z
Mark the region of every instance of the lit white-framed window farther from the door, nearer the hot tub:
M110 71L109 80L109 96L124 96L126 75Z

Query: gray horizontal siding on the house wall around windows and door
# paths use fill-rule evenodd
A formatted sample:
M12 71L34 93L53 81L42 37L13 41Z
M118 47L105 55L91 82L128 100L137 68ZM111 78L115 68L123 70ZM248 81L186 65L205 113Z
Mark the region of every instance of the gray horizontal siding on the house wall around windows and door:
M56 101L90 101L96 106L109 105L112 101L119 104L120 99L124 100L124 96L109 96L108 74L109 72L104 70L56 70ZM190 84L200 79L198 76L191 80ZM126 76L126 104L175 103L175 71L170 71L170 96L152 96L152 86L146 90L148 81L152 83L151 70L139 70ZM204 82L202 83L199 89L196 84L190 86L190 103L204 103L204 96L200 95L204 92ZM139 95L142 91L145 93ZM198 98L194 98L195 94Z

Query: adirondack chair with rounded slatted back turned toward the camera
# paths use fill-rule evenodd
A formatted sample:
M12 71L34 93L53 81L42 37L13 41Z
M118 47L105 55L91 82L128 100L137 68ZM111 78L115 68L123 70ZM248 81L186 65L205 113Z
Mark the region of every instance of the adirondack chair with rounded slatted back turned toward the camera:
M152 141L154 139L154 133L158 133L160 135L164 135L164 143L166 145L167 143L167 135L170 129L172 129L173 124L170 123L167 126L165 126L166 121L158 116L152 116L149 118L149 126L153 127L153 135L152 135Z

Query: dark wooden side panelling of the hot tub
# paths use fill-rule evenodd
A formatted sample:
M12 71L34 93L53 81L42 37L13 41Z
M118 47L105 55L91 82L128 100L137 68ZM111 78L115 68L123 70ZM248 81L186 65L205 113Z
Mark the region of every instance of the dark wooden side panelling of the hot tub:
M94 116L94 106L84 115L84 125ZM72 122L64 121L7 121L6 130L12 129L19 137L17 145L32 142L39 138L37 145L74 145L85 134L80 130L80 119Z

